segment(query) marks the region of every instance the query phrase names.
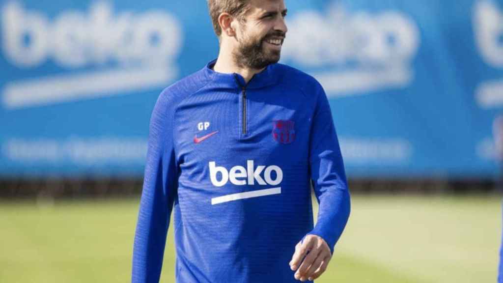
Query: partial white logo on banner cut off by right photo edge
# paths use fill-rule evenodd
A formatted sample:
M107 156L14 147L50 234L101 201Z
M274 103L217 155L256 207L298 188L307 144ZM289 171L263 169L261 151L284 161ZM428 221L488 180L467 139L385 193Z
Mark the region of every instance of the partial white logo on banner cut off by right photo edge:
M491 67L503 69L503 14L494 2L475 3L473 30L484 61ZM475 97L483 108L503 106L503 78L480 83Z

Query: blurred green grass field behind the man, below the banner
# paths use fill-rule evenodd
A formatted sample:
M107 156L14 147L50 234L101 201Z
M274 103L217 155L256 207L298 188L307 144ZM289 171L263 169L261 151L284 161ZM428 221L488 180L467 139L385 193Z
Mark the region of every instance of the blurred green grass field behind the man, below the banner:
M495 282L498 197L359 196L316 282ZM139 199L0 203L0 282L128 282ZM171 230L161 282L174 281Z

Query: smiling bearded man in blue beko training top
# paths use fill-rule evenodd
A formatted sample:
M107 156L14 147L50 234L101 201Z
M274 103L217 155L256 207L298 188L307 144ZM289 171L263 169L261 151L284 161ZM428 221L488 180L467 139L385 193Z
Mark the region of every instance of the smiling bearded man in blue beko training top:
M158 282L172 209L177 282L312 281L350 212L326 95L277 64L283 0L208 5L218 59L165 89L152 113L132 281Z

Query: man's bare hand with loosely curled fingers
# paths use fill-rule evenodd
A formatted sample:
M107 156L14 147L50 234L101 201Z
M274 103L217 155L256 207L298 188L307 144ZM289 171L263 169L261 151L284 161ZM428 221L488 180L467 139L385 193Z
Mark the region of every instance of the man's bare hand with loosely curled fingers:
M325 272L331 258L330 248L323 238L307 235L303 241L295 246L290 268L297 270L294 275L295 279L314 280Z

